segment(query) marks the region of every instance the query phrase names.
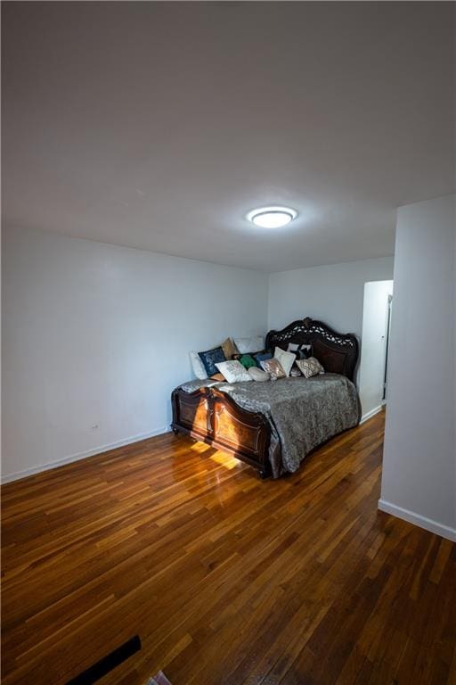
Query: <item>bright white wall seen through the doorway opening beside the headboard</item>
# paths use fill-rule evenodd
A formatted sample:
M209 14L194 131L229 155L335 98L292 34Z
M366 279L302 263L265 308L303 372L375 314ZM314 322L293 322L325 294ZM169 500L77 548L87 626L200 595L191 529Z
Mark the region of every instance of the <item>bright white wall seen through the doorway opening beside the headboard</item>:
M373 416L383 405L388 298L392 294L393 281L373 281L364 285L359 374L362 420Z

